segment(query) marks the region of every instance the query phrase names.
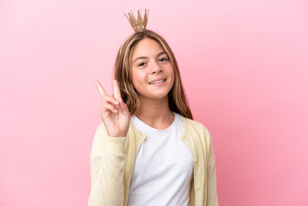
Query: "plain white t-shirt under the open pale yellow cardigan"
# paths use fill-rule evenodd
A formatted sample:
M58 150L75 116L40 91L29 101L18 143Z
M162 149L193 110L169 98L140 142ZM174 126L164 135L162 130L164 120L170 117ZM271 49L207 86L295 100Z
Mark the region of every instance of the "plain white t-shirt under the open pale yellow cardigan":
M180 115L164 130L157 130L131 117L147 135L137 153L127 206L188 206L193 157L180 140L184 124Z

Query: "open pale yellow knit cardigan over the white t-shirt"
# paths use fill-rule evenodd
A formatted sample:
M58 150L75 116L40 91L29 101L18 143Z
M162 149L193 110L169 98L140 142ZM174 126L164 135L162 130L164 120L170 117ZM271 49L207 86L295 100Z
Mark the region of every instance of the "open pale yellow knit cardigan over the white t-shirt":
M193 156L190 206L218 206L212 137L201 123L185 118L179 137ZM126 206L137 152L146 135L130 121L126 137L109 137L103 123L95 132L90 155L91 192L88 206Z

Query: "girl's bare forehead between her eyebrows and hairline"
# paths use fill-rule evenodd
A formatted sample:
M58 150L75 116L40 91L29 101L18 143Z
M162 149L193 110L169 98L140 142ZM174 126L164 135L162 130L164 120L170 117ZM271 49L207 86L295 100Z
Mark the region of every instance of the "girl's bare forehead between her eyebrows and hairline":
M132 50L132 58L139 56L156 56L164 51L162 46L155 40L144 38L140 40Z

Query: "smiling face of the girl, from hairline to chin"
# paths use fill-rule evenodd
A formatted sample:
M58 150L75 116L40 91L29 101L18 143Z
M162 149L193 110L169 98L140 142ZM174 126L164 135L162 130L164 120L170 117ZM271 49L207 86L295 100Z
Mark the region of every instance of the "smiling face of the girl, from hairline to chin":
M132 83L139 98L168 98L174 83L174 69L157 41L140 40L132 51L130 62Z

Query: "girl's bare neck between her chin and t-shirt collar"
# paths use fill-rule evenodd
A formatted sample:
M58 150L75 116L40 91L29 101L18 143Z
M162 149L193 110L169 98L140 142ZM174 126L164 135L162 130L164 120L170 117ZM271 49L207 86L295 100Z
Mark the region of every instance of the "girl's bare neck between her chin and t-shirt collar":
M136 117L157 130L168 128L175 115L169 108L168 96L160 100L139 98L140 107Z

